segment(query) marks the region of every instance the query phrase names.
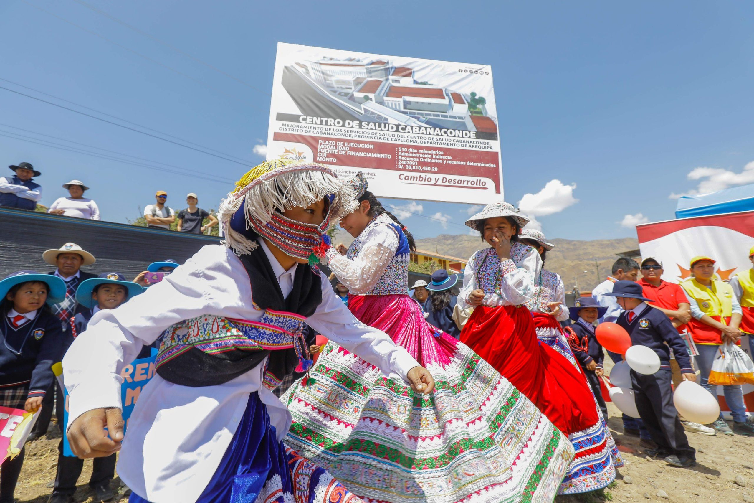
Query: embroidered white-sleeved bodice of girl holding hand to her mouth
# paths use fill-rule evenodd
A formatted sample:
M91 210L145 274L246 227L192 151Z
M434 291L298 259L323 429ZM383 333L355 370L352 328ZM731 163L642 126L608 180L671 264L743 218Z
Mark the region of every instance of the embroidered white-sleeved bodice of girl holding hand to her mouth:
M542 260L534 248L521 243L510 247L510 259L501 261L494 248L479 250L464 270L464 288L458 295L461 307L470 307L468 296L483 290L483 305L523 305L535 296L535 275Z

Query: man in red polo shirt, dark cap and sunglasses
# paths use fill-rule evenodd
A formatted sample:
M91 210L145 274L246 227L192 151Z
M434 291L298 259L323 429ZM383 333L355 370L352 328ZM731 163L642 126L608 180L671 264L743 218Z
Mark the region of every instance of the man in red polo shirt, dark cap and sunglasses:
M676 327L676 330L682 333L685 324L691 321L691 305L688 302L686 293L680 285L670 283L661 278L664 270L660 259L653 256L643 259L641 271L642 279L639 280L639 284L642 285L642 295L647 299L652 299L652 302L647 302L647 304L663 311L670 318L673 327ZM670 369L673 370L673 384L677 386L681 382L681 370L675 358L670 360ZM678 374L677 382L676 374ZM710 436L715 434L713 428L708 428L695 422L684 421L683 419L681 419L681 422L686 431Z

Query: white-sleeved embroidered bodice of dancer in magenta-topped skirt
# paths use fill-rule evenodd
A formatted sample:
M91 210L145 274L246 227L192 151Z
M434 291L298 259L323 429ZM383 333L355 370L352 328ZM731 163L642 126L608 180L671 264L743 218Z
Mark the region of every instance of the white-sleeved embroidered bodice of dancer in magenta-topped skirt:
M345 256L331 248L329 268L355 295L406 295L409 241L390 216L376 216L348 247Z

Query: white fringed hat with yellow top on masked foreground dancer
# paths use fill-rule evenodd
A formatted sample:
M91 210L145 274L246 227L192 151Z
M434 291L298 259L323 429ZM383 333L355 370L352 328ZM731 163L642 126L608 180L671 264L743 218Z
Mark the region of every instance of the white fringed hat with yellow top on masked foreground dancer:
M255 230L250 216L266 223L277 210L307 207L323 198L329 198L330 225L336 225L356 209L354 196L348 181L339 179L324 164L290 159L265 161L241 176L235 189L220 203L217 213L225 233L222 243L236 255L250 253L258 246L249 235L250 230Z

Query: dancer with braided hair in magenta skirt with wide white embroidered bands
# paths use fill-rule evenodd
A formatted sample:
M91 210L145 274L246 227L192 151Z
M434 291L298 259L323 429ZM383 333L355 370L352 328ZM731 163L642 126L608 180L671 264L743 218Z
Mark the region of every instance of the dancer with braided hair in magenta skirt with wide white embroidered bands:
M489 363L425 321L407 295L413 238L366 179L341 226L356 240L326 253L348 308L384 330L436 380L418 396L348 348L329 342L310 375L281 398L286 443L365 501L552 501L573 459L569 441Z

